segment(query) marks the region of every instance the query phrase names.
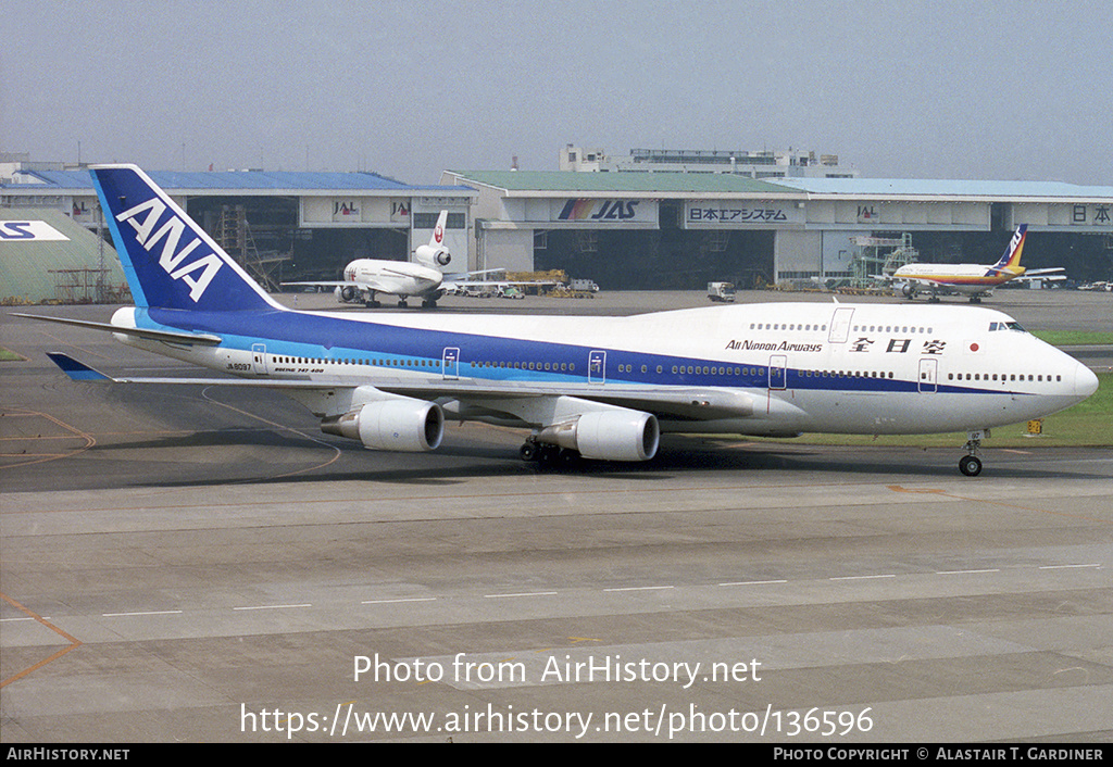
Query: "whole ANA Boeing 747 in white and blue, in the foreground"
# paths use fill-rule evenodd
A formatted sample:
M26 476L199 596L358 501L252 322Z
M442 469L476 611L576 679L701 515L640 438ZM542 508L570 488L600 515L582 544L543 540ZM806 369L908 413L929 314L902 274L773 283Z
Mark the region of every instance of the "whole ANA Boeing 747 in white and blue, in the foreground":
M1084 365L981 307L756 304L630 317L298 312L268 296L134 166L92 171L135 307L126 344L229 373L73 378L278 390L322 430L376 450L435 450L446 420L529 430L528 460L646 461L662 432L965 431L964 474L993 426L1097 387ZM28 316L28 315L21 315ZM47 318L47 317L39 317Z

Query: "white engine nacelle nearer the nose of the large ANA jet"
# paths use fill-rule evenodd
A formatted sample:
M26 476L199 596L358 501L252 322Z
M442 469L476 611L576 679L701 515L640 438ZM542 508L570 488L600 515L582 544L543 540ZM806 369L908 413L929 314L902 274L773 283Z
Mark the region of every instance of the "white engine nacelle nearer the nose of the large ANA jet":
M600 461L648 461L657 454L660 437L657 417L636 410L590 411L536 435L538 442Z

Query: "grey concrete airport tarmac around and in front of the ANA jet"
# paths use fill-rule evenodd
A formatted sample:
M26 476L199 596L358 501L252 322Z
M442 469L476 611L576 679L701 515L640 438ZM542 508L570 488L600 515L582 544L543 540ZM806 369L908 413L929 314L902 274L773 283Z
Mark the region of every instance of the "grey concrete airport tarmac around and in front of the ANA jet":
M1113 297L985 305L1107 331ZM0 363L6 744L1113 739L1107 450L991 439L968 479L961 445L672 436L561 473L521 462L513 430L376 453L280 395L76 384L42 354L191 370L106 334L0 334L27 357Z

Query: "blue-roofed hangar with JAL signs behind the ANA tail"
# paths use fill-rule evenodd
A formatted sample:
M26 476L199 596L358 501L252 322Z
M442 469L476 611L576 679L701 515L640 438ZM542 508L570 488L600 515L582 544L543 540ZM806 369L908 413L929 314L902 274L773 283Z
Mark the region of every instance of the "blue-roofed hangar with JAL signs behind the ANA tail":
M363 171L149 175L270 291L279 291L283 282L338 279L353 258L406 260L418 245L429 243L442 209L449 210L445 235L450 250L465 254L471 239L470 210L477 196L470 187L413 186ZM65 235L63 225L70 222L108 238L88 170L19 168L0 179L0 248L7 253L4 271L0 272L0 298L71 303L62 295L72 295L72 287L57 284L53 294L47 287L59 282L47 274L57 273L62 264L73 279L95 282L76 275L75 259L59 245L77 240ZM58 234L51 235L55 239L50 242L19 237L30 230L12 226L22 219L43 220ZM9 230L13 236L6 237ZM95 245L81 246L83 263L86 271L95 272L104 268L105 259L97 252L99 240L93 237L90 242ZM69 244L69 250L75 247ZM24 250L24 256L8 257ZM115 256L108 260L115 262ZM454 256L450 269L459 265L464 271L463 262L462 255ZM118 271L107 278L114 279Z

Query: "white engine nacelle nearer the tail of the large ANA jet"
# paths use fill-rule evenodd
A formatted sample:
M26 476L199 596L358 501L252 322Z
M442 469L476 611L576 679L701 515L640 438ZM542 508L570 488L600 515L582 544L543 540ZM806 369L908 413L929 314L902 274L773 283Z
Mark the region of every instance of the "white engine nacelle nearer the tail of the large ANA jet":
M326 419L321 431L359 440L373 450L417 453L441 446L444 411L435 402L410 397L380 400Z

